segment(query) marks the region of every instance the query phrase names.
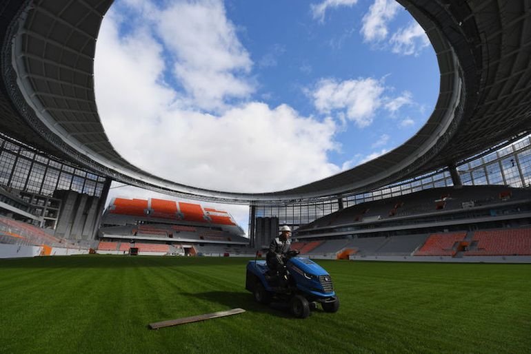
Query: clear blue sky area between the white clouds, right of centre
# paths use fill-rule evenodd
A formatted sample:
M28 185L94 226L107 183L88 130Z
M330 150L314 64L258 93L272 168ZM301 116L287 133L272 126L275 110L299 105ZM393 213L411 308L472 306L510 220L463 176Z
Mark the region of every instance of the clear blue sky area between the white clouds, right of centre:
M319 3L323 2L312 4ZM359 154L373 154L374 144L392 149L403 143L425 123L439 93L439 70L430 45L417 45L414 52L405 54L393 52L385 39L365 39L363 17L373 4L360 0L350 6L327 8L324 17L316 20L308 1L226 2L228 17L241 28L241 43L257 63L256 96L269 105L288 103L303 115L322 117L307 91L323 78L377 79L386 87L384 95L392 98L410 92L410 104L397 112L377 110L372 124L366 127L348 122L338 129L335 140L341 149L328 154L337 165ZM398 6L393 19L386 23L388 39L412 21ZM382 135L388 136L387 140ZM385 144L379 143L384 140Z

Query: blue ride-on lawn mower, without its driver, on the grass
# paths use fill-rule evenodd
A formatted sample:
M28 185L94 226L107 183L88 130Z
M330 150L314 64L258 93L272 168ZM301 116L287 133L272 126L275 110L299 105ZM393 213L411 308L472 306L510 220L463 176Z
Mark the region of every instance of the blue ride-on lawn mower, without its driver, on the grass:
M246 289L261 304L272 301L288 304L295 317L305 318L321 303L325 312L337 312L339 299L334 292L332 278L325 269L309 258L296 257L290 251L285 257L285 281L270 271L265 260L250 260L247 264ZM281 275L283 276L283 275Z

